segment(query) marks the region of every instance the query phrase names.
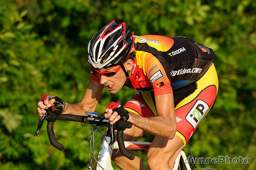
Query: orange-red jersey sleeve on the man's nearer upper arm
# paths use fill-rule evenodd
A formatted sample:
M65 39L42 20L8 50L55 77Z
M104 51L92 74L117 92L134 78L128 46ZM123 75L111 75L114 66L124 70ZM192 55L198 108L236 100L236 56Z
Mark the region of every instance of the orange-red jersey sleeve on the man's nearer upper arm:
M147 55L143 70L153 86L155 96L172 93L171 82L164 67L155 56L149 53Z

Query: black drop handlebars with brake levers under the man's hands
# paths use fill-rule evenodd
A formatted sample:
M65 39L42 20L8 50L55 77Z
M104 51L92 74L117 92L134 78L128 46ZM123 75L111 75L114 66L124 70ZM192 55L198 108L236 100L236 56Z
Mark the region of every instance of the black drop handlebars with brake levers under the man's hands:
M56 120L65 120L65 121L76 121L76 122L87 122L88 124L92 124L95 126L109 126L107 135L110 137L109 145L113 145L115 141L114 130L117 130L117 143L119 146L119 150L123 156L126 158L133 160L135 156L131 154L125 148L125 143L123 141L123 131L125 129L131 128L133 124L131 122L119 120L115 122L115 124L110 125L108 119L99 116L100 114L96 112L85 112L87 116L77 116L72 114L60 114L57 115L51 111L51 109L47 109L47 112L39 118L38 129L36 129L36 133L34 136L38 135L40 129L42 128L43 121L47 120L47 134L51 145L58 150L64 150L64 145L57 141L55 137L55 133L53 131L53 124Z

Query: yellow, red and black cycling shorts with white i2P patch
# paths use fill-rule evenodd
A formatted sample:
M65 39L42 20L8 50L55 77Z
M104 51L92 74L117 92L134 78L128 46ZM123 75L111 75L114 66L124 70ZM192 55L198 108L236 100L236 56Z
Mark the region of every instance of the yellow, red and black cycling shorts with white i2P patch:
M218 77L214 65L197 82L174 91L175 116L178 135L187 144L201 120L214 106L218 92ZM154 92L141 92L124 105L127 111L144 117L157 116Z

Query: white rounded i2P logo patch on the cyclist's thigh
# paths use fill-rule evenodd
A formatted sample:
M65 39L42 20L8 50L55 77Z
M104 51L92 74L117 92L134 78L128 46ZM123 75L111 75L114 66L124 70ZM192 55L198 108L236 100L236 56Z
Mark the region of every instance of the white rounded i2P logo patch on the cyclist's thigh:
M193 106L191 111L186 116L186 120L193 126L195 129L196 126L203 119L207 111L209 110L209 106L203 100L197 100L196 104Z

